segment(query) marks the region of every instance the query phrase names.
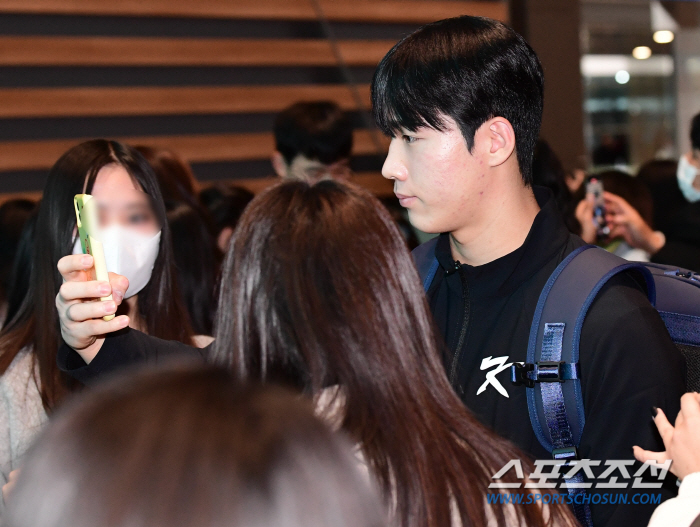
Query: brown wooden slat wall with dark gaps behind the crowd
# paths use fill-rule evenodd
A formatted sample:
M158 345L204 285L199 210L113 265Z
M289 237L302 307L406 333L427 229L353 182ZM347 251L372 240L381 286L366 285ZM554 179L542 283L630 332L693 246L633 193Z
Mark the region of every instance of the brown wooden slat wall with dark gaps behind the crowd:
M358 181L390 192L378 172L387 142L363 129L373 68L423 23L460 14L505 20L506 4L320 5L342 30L338 50L357 79L361 108L311 0L3 0L0 195L38 191L55 160L86 138L86 126L93 136L174 150L201 179L234 175L250 188L264 186L274 181L264 177L271 173L274 114L316 99L352 112ZM96 34L93 27L108 29Z

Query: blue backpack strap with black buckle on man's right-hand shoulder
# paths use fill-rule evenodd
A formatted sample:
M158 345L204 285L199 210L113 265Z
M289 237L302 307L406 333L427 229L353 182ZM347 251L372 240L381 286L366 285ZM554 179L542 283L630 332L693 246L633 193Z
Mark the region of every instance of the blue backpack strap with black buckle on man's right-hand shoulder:
M569 254L540 294L530 328L527 362L513 365L511 377L515 384L527 386L533 430L555 459L578 458L577 447L585 424L579 342L586 314L613 276L633 271L642 276L649 299L654 303L654 280L646 267L592 245ZM581 473L572 480L576 477L583 482ZM585 492L583 488L568 490L570 494ZM588 506L581 504L574 509L579 521L590 525Z

